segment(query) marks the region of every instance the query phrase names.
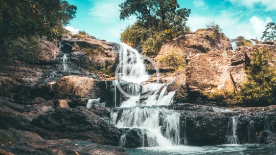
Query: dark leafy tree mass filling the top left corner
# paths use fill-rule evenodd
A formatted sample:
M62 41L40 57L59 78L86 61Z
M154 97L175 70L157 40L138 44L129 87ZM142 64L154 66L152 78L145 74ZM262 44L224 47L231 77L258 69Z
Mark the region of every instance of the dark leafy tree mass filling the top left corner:
M0 0L0 62L38 62L38 36L61 39L77 7L62 0ZM37 36L37 37L34 37ZM27 50L31 47L31 50Z

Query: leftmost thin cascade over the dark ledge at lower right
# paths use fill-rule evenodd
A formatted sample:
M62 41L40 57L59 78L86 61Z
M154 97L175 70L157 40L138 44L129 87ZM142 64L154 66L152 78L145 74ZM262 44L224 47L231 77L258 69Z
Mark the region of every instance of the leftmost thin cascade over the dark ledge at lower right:
M240 144L237 135L237 120L235 117L231 117L228 122L227 128L228 144Z

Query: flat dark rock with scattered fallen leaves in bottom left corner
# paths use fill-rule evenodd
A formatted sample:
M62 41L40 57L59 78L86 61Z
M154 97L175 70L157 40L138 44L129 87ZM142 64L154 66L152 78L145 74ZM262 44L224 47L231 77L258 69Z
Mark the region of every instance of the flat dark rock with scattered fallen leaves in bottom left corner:
M5 139L2 139L5 137ZM14 154L127 154L122 147L81 140L44 140L39 135L15 129L0 129L0 149Z

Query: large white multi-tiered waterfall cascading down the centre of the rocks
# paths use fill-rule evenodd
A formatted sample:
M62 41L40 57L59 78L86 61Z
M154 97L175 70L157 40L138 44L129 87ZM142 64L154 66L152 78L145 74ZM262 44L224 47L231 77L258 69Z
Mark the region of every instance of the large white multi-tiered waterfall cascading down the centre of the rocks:
M110 121L119 128L139 130L141 147L180 145L180 114L157 106L170 105L175 91L167 93L168 86L165 86L158 95L160 87L164 84L139 84L146 81L150 76L146 72L141 55L131 47L122 44L119 58L118 80L114 81L112 85L125 84L123 81L129 82L125 92L130 97L120 103L117 112L111 113ZM110 90L116 97L116 86L111 86ZM152 93L144 98L143 95L148 92ZM115 98L115 105L119 105L117 102L118 100ZM120 145L127 147L126 135L121 137Z

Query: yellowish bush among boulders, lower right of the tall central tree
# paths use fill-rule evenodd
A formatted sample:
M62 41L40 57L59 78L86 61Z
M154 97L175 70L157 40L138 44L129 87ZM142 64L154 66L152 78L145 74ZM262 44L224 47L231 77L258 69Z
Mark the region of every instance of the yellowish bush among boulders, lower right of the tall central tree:
M180 49L169 51L169 54L159 57L157 61L173 72L186 68L186 56L182 54Z

